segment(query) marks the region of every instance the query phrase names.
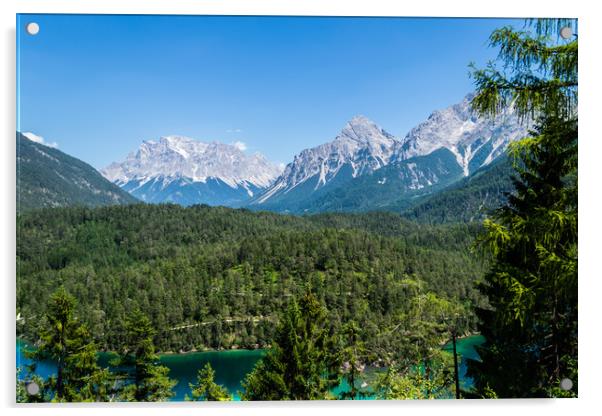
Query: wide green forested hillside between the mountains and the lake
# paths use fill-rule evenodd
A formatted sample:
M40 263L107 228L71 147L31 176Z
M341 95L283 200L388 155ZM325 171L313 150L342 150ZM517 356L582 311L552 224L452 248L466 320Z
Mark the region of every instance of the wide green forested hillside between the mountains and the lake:
M103 349L140 308L163 350L269 345L291 296L308 289L338 330L349 319L387 350L417 296L480 304L478 226L417 225L391 213L308 217L176 205L43 209L17 219L18 332L63 285ZM430 295L429 295L430 296ZM464 328L473 324L470 317Z

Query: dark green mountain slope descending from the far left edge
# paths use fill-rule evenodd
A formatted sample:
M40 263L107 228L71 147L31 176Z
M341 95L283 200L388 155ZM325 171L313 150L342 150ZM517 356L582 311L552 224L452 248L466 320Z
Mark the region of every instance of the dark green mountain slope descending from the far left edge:
M17 211L69 205L139 202L87 163L36 143L20 132L17 140Z

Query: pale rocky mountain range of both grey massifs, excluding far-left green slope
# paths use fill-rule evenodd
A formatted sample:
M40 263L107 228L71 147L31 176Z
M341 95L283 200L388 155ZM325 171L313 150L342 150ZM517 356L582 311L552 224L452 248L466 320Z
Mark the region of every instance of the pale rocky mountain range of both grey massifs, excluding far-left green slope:
M284 170L235 145L168 136L144 141L102 174L146 202L206 203L289 213L398 209L470 176L527 135L512 107L476 116L469 94L403 138L365 116Z

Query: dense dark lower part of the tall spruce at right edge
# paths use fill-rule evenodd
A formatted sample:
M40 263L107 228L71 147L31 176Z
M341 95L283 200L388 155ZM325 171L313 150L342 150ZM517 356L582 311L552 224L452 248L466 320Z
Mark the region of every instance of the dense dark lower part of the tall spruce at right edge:
M500 397L547 396L576 376L567 365L577 356L576 120L544 120L534 133L513 148L525 166L517 194L483 237L495 262L483 285L483 361L472 371Z

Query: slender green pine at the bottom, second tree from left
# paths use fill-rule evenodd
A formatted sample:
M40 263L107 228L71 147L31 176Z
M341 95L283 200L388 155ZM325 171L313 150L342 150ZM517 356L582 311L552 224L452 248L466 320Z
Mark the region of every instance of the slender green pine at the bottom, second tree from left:
M155 329L139 310L131 313L125 323L125 345L120 352L118 367L127 369L119 398L124 401L165 401L174 395L177 381L168 376L169 369L158 364L153 337Z

